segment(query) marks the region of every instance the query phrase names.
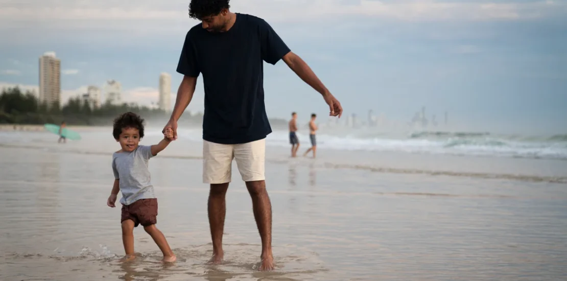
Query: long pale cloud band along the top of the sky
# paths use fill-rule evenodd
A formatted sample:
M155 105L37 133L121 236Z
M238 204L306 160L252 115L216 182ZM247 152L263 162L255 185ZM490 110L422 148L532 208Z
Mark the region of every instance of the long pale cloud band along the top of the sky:
M6 27L32 23L35 26L76 22L92 26L128 26L132 22L163 28L157 22L197 23L188 16L187 0L170 1L32 1L0 0L0 22ZM33 1L36 2L36 1ZM300 8L301 6L301 8ZM555 1L344 1L344 0L247 0L234 1L231 9L258 15L270 22L320 22L340 20L344 16L371 17L404 21L424 20L518 20L567 14L567 3ZM101 22L104 21L104 22ZM157 21L157 22L156 22ZM67 26L69 27L69 26ZM134 27L136 28L136 27ZM139 27L138 27L139 28Z

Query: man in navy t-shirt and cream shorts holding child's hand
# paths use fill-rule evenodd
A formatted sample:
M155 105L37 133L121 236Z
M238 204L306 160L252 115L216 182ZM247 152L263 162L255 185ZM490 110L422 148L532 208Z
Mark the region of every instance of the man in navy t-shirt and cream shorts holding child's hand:
M193 98L197 77L203 74L203 181L210 184L208 213L213 257L223 259L225 195L231 181L231 162L252 198L252 208L262 241L260 270L272 270L272 205L264 177L265 138L272 132L264 105L263 61L280 59L303 81L317 90L329 105L331 116L341 116L338 100L309 66L290 51L263 19L229 10L229 0L191 0L189 16L201 24L189 30L177 72L184 75L177 91L171 119L164 130L174 131L177 120Z

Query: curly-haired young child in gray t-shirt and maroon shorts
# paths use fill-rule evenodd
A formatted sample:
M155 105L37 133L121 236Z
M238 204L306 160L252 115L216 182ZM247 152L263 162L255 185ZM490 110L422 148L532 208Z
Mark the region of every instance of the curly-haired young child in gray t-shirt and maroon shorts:
M137 114L126 112L114 120L112 135L122 149L112 156L114 186L108 198L108 206L116 207L116 195L122 192L122 243L126 256L123 261L130 261L134 255L134 228L141 224L143 229L154 239L163 253L164 262L174 262L176 257L167 244L166 237L155 227L158 215L158 199L150 182L148 160L165 149L173 139L173 132L164 132L159 144L139 145L143 137L143 119Z

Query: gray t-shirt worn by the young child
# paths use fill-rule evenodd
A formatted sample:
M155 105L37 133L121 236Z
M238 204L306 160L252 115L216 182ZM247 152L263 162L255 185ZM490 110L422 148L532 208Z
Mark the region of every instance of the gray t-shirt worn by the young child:
M140 199L155 198L147 166L151 157L151 146L145 145L138 145L133 152L112 154L112 171L115 179L120 179L122 191L120 203L130 205Z

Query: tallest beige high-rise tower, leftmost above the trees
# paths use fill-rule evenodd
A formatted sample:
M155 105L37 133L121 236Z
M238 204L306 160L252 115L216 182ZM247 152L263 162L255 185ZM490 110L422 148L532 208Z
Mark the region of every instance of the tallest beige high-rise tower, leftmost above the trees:
M54 52L39 57L39 100L48 108L61 102L61 60Z

